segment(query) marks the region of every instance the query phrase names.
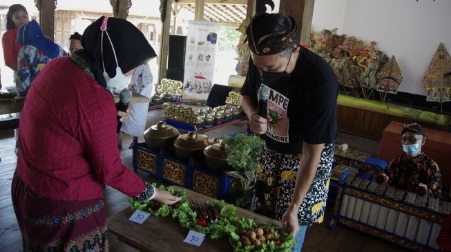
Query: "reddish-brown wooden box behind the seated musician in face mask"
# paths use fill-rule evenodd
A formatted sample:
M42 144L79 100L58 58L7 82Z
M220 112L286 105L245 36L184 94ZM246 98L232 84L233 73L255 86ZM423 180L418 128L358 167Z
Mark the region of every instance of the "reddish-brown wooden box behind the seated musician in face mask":
M392 121L385 127L379 146L378 158L390 162L403 153L401 144L401 130L404 123ZM422 151L430 156L439 165L442 176L443 188L449 189L451 185L451 133L423 127L428 137Z

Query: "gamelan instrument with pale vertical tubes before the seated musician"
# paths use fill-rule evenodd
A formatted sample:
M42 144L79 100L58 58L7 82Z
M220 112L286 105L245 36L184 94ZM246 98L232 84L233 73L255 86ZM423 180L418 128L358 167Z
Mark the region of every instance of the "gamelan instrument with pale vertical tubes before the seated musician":
M451 203L348 176L340 183L330 227L370 233L413 251L439 251L437 235Z

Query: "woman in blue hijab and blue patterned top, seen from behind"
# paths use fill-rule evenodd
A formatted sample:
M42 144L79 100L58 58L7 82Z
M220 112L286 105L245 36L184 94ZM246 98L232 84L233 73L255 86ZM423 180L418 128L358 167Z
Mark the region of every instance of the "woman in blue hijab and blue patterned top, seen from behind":
M17 43L21 45L17 59L17 92L26 96L31 83L48 61L67 55L63 48L47 39L37 21L20 26Z

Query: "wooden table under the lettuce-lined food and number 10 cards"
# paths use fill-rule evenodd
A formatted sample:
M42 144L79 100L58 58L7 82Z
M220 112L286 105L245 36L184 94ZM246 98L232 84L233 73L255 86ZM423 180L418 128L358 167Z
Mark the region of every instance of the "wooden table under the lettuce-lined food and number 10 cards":
M175 189L183 189L189 199L212 201L213 198L204 196L195 191L173 186ZM108 218L108 231L117 236L118 240L132 246L139 251L232 251L232 246L227 238L212 240L206 237L200 247L186 244L184 238L189 232L172 218L149 217L143 224L137 224L128 220L133 210L128 207ZM236 208L236 213L240 217L252 218L258 224L272 221L279 226L281 223L260 216L251 211Z

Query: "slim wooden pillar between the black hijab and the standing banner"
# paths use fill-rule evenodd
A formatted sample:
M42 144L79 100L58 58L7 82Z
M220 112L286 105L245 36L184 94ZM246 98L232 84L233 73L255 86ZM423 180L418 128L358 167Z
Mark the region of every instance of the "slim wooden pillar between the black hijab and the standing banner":
M168 52L169 52L169 28L171 28L171 11L172 0L161 0L160 11L162 19L162 41L160 43L160 72L158 74L158 83L162 78L166 78L166 70L168 67Z

